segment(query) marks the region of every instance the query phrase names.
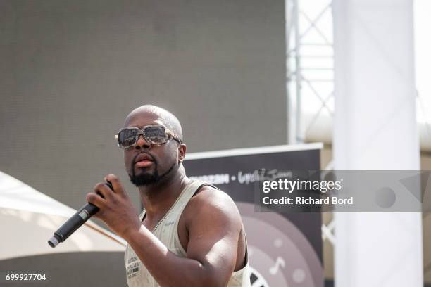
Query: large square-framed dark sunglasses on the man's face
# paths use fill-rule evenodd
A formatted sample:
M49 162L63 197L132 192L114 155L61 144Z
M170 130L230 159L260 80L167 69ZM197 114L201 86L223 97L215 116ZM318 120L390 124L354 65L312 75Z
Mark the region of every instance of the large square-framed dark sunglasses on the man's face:
M115 134L115 139L120 148L130 148L130 146L135 146L141 134L144 136L145 141L151 145L166 144L171 139L177 141L178 144L182 144L181 140L170 129L165 129L161 125L147 125L142 129L125 127L120 129L118 134Z

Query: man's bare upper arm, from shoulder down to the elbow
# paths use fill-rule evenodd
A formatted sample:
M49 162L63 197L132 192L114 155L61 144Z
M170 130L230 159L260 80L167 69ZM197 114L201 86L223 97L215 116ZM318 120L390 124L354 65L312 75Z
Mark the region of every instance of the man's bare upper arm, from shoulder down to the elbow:
M227 196L206 196L192 205L187 257L201 262L215 278L229 279L237 261L241 221L235 203Z

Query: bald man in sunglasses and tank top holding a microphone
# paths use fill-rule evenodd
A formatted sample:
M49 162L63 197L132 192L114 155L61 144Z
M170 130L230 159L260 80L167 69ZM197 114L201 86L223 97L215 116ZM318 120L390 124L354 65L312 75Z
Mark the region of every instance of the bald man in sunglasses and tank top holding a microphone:
M187 178L186 145L177 118L156 106L127 115L117 135L130 180L139 189L139 216L122 184L94 186L89 203L128 245L129 286L250 286L246 236L235 203L214 186Z

